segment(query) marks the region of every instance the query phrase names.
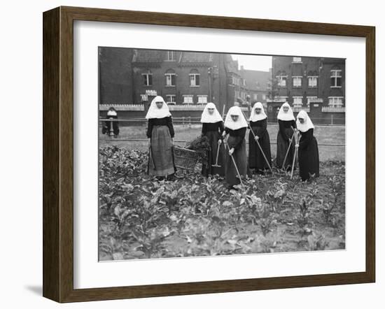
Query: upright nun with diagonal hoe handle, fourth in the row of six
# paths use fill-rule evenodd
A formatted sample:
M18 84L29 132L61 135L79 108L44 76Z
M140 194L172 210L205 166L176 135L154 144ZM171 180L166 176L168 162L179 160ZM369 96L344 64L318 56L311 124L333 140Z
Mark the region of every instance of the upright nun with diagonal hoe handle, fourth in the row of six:
M262 103L257 102L254 104L249 121L253 132L248 134L248 167L253 168L255 173L264 174L265 170L269 168L267 161L271 164L272 155L269 132L267 132L267 115L263 110ZM267 161L257 143L259 143Z

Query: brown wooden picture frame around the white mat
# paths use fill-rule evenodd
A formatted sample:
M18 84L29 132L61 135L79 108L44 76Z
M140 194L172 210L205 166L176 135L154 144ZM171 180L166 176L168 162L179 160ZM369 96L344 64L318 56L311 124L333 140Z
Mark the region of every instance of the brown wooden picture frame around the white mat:
M366 40L366 269L162 285L73 288L73 21L362 37ZM58 302L345 285L375 280L375 29L238 17L59 7L43 13L43 296Z

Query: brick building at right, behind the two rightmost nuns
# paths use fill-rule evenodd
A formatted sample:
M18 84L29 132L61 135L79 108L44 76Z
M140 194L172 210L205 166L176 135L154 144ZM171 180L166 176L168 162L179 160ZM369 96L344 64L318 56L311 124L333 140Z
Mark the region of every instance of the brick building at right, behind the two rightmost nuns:
M344 124L345 59L274 56L269 96L270 120L288 101L295 113L307 110L316 123Z

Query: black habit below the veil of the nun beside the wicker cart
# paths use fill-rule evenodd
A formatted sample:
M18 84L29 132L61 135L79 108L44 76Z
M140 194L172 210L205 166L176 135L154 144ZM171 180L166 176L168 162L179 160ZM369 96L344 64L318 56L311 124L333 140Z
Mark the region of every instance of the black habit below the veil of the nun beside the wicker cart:
M225 176L225 145L221 143L219 146L219 153L218 153L218 165L219 166L213 166L216 164L216 154L218 152L218 140L220 138L220 134L218 131L207 131L206 134L209 139L210 143L210 150L207 151L207 158L208 158L208 165L202 166L202 175L208 176L208 175L221 175Z

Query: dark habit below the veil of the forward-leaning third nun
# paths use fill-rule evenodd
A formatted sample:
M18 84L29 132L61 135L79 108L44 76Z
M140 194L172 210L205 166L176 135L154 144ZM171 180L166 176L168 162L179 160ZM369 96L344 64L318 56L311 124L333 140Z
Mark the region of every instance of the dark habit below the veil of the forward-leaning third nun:
M229 136L228 143L231 145L232 136ZM232 157L235 159L235 164L241 177L245 177L247 173L247 159L246 159L246 141L243 140L241 147L236 149L232 153ZM232 161L231 156L229 155L228 149L226 149L226 182L228 185L239 185L240 180L238 178L237 170L235 169L234 161Z

